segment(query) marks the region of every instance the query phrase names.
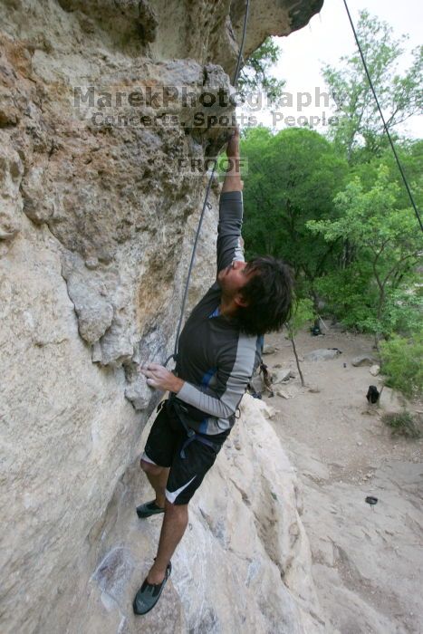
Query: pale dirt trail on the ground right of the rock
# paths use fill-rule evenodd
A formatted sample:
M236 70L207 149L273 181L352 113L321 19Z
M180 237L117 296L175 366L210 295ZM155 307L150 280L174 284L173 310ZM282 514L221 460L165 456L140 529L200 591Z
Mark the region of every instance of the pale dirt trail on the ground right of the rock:
M292 398L264 399L278 410L274 428L303 484L303 523L328 634L422 633L423 439L391 437L382 423L383 412L401 409L392 390L383 390L379 410L368 407L367 389L381 379L351 360L374 356L370 338L334 328L320 337L301 333L301 357L342 351L333 360L303 361L305 389L291 342L274 335L266 343L279 349L264 357L269 368L289 366L297 377L284 387ZM374 507L367 495L378 498Z

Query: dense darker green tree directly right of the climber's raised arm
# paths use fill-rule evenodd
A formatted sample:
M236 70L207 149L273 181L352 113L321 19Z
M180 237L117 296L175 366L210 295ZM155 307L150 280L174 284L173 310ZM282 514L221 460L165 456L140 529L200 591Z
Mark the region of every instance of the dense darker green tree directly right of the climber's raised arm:
M334 195L343 187L347 165L331 143L312 130L290 128L272 135L247 130L242 153L245 175L247 255L269 254L289 262L315 303L314 281L330 268L336 241L312 235L306 223L332 218Z

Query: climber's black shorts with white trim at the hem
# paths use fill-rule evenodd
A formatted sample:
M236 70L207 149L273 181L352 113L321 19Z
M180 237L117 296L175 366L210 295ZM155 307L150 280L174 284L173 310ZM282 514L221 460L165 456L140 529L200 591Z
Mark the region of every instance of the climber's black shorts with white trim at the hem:
M182 457L181 450L187 441L187 432L167 403L165 401L159 406L159 414L149 432L142 459L153 465L169 466L166 498L172 504L188 504L208 469L213 466L230 430L214 436L197 434L212 442L214 447L193 440L184 448L185 457Z

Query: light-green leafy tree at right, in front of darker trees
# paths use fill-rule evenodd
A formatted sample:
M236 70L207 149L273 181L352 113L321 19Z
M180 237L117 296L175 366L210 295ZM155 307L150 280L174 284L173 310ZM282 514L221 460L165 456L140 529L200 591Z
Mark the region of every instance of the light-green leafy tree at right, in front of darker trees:
M399 208L398 201L399 186L382 165L368 191L356 177L335 197L338 218L307 224L313 235L330 243L341 238L353 246L354 262L343 272L343 284L339 272L332 283L337 280L336 293L344 293L345 299L351 292L351 317L362 329L373 331L376 341L395 330L399 312L408 312L411 321L415 318L412 288L421 235L412 210Z

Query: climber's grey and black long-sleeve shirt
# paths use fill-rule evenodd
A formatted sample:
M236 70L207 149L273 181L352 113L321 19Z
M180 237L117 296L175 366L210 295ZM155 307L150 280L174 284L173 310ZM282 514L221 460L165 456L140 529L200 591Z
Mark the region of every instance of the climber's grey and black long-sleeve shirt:
M240 191L220 197L217 272L233 260L244 261L241 247L243 198ZM234 319L218 314L221 289L216 282L191 312L178 346L176 373L185 380L178 399L191 406L186 424L202 434L230 429L236 408L257 368L263 337L246 335Z

